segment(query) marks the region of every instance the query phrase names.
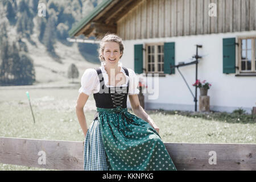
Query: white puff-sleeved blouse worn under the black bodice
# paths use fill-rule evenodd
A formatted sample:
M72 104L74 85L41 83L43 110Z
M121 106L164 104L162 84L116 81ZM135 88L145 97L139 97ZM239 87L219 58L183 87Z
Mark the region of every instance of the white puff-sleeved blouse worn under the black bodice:
M122 68L122 63L120 61L118 62L118 67ZM101 64L100 69L102 76L104 77L105 85L108 87L114 87L109 85L109 76L105 71L104 63ZM130 80L128 94L139 94L139 89L137 88L139 84L138 77L135 75L135 72L132 69L127 68L127 70L129 72L129 76L125 74L125 70L123 68L121 69L122 73L125 74L126 77L126 83L121 86L127 86ZM84 74L82 74L79 93L85 93L86 95L90 96L90 94L98 92L100 92L100 79L98 78L98 73L96 69L88 68L85 70Z

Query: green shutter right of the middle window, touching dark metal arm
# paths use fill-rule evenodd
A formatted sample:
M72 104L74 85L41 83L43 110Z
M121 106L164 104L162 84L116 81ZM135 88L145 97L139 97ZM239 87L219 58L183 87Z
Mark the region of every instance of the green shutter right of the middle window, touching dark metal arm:
M164 43L164 73L174 74L175 68L170 68L171 65L175 65L175 43Z

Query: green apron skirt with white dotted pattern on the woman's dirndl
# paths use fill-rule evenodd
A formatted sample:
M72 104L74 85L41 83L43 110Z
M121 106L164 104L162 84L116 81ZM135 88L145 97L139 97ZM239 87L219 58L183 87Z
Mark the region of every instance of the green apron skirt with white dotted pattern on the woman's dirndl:
M176 171L162 139L127 108L97 107L106 163L110 171Z

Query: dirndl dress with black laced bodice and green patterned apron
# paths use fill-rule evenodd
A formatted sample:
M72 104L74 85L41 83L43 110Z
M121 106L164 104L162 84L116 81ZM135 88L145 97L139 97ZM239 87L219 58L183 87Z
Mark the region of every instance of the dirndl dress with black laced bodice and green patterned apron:
M156 130L127 110L129 83L109 88L96 71L101 86L93 94L97 113L85 138L84 170L176 171Z

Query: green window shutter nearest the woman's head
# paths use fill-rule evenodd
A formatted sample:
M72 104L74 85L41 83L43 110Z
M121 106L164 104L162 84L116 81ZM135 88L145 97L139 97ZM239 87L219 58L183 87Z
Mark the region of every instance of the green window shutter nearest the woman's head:
M143 73L143 44L134 45L134 72Z

